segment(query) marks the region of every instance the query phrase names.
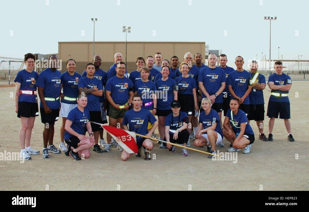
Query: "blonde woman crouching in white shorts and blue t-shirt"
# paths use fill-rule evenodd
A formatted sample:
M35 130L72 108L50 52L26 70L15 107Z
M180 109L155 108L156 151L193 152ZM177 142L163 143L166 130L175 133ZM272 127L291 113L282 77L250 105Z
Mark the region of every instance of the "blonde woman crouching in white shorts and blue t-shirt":
M199 117L199 126L197 129L196 138L194 140L194 146L202 147L207 146L208 152L216 153L216 145L222 142L223 133L220 127L220 119L218 112L211 109L210 98L203 98L201 101L201 112ZM211 149L209 148L211 146ZM211 155L208 158L212 158Z

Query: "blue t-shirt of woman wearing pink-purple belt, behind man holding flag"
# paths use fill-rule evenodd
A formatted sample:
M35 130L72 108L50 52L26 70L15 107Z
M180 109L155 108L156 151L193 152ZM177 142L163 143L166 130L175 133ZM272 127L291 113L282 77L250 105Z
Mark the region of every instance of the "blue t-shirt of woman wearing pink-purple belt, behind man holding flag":
M155 94L155 92L157 91L157 87L155 86L155 83L151 80L149 80L148 82L143 82L142 80L139 80L135 83L134 90L137 91L139 95L141 95L143 103L146 103L152 101L152 98L150 97ZM153 103L148 106L142 106L142 108L146 110L152 110L153 107Z

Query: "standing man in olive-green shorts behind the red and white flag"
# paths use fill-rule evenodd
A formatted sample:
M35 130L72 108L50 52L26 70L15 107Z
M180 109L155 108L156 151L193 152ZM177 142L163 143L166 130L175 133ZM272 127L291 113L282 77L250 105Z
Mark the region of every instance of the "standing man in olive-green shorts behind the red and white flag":
M112 127L117 127L117 123L122 123L125 112L132 104L133 83L124 77L125 70L125 63L118 63L116 76L110 78L105 86L105 96L109 102L108 123ZM111 143L113 147L118 146L118 143L109 134L107 135L107 143Z

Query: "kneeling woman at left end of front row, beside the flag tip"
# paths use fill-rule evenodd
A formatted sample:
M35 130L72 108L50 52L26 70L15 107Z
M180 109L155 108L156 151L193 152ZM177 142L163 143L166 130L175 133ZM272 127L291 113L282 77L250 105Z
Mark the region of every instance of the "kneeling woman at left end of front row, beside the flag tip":
M87 109L87 95L82 92L77 98L77 107L72 109L66 118L64 140L68 144L66 156L74 160L81 160L80 156L90 157L90 150L94 144L93 133L89 121L90 114ZM90 137L84 135L87 127Z

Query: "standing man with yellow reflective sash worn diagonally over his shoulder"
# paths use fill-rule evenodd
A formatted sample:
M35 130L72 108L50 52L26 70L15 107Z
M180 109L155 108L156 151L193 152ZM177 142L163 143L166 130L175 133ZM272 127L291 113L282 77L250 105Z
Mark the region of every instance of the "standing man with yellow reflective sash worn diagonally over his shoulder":
M263 120L265 113L263 90L265 89L266 81L265 76L257 72L258 67L259 66L255 60L250 63L252 90L249 94L250 113L248 115L248 122L250 123L250 120L255 120L260 133L259 139L268 141L263 133Z

